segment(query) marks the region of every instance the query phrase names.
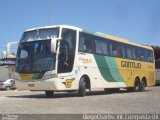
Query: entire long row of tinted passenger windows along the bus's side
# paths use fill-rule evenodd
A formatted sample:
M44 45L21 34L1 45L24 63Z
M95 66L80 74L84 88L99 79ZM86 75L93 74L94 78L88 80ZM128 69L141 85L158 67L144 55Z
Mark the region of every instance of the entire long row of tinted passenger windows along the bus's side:
M79 51L153 62L153 52L151 50L86 33L80 33Z

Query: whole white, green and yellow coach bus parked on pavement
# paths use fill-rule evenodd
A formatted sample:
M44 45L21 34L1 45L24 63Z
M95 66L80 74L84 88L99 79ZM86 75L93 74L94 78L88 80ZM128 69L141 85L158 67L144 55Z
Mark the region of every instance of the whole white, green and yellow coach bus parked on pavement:
M151 47L103 33L57 25L26 30L16 57L16 86L58 91L97 88L141 91L155 84Z

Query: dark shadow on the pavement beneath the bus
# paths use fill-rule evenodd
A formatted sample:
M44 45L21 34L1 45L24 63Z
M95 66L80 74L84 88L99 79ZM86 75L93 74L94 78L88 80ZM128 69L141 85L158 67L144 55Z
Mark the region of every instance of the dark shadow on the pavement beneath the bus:
M145 90L143 92L150 92L151 90ZM113 95L113 94L127 94L127 93L141 93L141 92L131 92L127 90L119 90L119 91L91 91L86 93L87 96L101 96L101 95ZM17 95L17 96L7 96L8 98L30 98L30 99L58 99L58 98L72 98L79 97L77 92L55 92L52 97L48 97L45 94L29 94L29 95Z

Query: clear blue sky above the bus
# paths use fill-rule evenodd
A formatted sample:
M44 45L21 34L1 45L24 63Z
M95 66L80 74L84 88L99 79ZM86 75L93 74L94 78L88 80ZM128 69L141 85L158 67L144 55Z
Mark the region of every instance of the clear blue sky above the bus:
M0 52L24 30L67 24L160 46L160 0L0 0Z

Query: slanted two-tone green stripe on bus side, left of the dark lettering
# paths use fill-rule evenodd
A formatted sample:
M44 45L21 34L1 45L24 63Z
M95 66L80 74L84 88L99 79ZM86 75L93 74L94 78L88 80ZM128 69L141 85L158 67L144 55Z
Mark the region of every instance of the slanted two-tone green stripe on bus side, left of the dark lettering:
M97 66L103 78L108 82L123 82L118 70L115 58L101 55L94 55Z

